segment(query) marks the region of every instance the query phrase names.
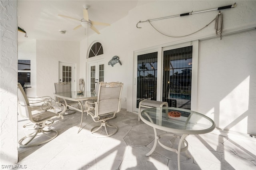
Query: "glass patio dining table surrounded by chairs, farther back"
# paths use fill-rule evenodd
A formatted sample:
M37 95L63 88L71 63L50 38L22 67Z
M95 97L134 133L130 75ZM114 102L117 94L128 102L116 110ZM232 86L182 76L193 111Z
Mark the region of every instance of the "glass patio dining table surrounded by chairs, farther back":
M82 94L78 94L76 91L72 91L72 92L61 92L61 93L53 93L53 94L54 94L54 96L59 97L59 98L64 100L65 107L66 107L65 109L67 109L67 107L70 107L70 108L72 108L76 111L81 112L82 118L81 118L81 123L80 123L79 130L78 130L78 132L79 132L80 128L82 126L83 113L86 112L86 110L82 106L82 102L86 101L86 100L90 100L90 99L97 99L96 93L95 92L90 92L90 91L84 91ZM80 107L76 108L76 107L73 107L71 105L68 105L66 100L76 101L78 103L78 105L80 105Z

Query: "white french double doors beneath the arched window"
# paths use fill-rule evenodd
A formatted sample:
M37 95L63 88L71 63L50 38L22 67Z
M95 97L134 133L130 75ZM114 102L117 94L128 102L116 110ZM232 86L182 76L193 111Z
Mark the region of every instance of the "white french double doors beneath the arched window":
M103 61L89 62L87 73L89 77L89 82L87 83L87 90L94 91L96 83L104 81Z

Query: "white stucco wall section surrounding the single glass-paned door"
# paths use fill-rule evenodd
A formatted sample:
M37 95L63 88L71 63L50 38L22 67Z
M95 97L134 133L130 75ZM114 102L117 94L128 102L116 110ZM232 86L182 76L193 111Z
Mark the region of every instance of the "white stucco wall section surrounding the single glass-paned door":
M37 96L54 97L54 83L58 83L59 79L59 61L75 63L77 64L76 69L79 70L79 42L36 40ZM76 77L80 77L78 71Z

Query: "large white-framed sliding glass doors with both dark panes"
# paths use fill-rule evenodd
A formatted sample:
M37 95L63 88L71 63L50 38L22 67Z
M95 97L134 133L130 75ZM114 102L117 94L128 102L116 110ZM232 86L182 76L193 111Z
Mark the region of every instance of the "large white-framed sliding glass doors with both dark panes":
M198 41L136 52L134 66L134 111L144 99L196 111Z

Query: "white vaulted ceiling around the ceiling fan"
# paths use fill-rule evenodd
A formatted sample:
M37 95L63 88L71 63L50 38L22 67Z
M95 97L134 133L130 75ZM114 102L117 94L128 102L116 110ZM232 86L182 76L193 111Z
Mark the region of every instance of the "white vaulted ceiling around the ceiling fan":
M77 18L83 18L83 6L90 5L88 9L89 19L98 22L113 24L128 15L128 12L142 4L152 2L146 0L18 0L18 26L27 32L18 32L18 41L26 40L66 40L80 41L90 34L96 34L93 30L85 30L80 27L77 20L58 16L62 14ZM107 26L95 26L102 30ZM111 27L111 26L110 26ZM66 30L66 34L60 34L60 30ZM86 34L86 35L85 35Z

